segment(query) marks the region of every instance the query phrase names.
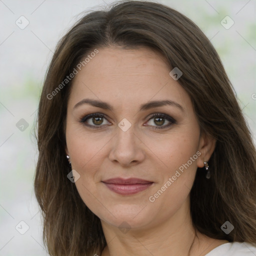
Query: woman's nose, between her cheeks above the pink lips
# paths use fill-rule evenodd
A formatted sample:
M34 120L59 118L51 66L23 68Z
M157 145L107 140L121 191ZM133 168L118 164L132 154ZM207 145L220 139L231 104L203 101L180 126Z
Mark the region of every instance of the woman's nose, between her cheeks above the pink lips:
M141 162L145 157L144 144L134 133L133 125L123 131L116 128L116 135L112 139L109 159L122 166L130 166Z

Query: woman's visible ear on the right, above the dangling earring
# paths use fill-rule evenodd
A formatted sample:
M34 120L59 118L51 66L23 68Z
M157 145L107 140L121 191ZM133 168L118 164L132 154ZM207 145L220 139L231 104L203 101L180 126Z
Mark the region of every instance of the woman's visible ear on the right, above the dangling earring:
M208 161L215 149L216 138L202 132L199 138L198 151L201 154L197 159L197 167L204 167L204 161Z

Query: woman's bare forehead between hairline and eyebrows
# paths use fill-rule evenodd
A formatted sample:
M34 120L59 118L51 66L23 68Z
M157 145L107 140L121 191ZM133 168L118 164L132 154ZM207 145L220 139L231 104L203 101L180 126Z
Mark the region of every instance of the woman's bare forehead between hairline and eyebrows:
M170 70L166 59L150 48L98 48L73 78L69 101L74 105L90 97L130 106L168 98L190 104L186 91L170 77Z

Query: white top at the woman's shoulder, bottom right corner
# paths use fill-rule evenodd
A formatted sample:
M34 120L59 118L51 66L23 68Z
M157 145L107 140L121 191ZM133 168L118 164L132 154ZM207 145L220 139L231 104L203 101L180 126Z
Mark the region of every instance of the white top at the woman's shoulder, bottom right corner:
M256 247L247 242L223 243L205 256L256 256Z

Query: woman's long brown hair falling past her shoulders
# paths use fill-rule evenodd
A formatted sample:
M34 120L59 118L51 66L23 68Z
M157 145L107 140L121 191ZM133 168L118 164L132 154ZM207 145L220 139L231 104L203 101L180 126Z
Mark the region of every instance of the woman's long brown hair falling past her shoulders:
M217 52L178 11L154 2L122 1L76 22L58 42L44 79L34 189L49 254L91 255L106 245L100 219L67 178L65 122L72 80L59 91L56 87L95 47L111 46L150 47L182 71L178 83L190 96L200 130L216 139L208 160L211 178L205 179L198 167L190 190L193 226L212 238L256 243L255 147ZM225 221L234 226L229 234L220 228Z

